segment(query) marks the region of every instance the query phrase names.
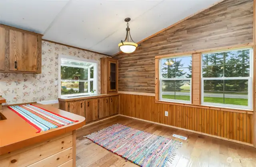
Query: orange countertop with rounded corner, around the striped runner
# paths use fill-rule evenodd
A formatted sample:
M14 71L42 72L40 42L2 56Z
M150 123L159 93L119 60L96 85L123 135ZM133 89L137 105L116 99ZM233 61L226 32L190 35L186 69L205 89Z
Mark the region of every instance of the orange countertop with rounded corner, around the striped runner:
M69 113L49 105L39 103L33 104L60 114L64 117L78 120L78 122L36 133L37 130L26 123L24 119L11 111L9 108L3 107L3 111L0 112L6 117L6 119L0 121L0 155L33 145L35 143L46 141L47 139L57 137L85 125L85 117Z

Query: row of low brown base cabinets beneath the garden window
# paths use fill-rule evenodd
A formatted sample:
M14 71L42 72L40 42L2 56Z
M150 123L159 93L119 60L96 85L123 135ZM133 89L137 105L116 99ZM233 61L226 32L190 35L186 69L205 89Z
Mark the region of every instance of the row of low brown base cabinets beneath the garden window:
M86 118L86 123L88 123L118 114L119 95L76 101L62 101L59 99L59 109L81 115Z

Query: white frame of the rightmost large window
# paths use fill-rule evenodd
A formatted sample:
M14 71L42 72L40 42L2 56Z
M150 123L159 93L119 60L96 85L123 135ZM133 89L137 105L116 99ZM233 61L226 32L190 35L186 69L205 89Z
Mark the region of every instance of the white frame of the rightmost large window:
M202 56L203 54L214 54L214 53L223 53L230 51L238 51L238 50L248 50L250 49L250 76L249 77L220 77L220 78L203 78L203 63ZM252 48L243 48L243 49L234 49L234 50L225 50L222 52L206 52L202 53L201 56L201 104L205 106L214 106L214 107L224 107L230 109L252 109L252 76L253 76L253 49ZM221 103L209 103L204 102L204 80L248 80L248 106L243 105L232 105L232 104L221 104Z

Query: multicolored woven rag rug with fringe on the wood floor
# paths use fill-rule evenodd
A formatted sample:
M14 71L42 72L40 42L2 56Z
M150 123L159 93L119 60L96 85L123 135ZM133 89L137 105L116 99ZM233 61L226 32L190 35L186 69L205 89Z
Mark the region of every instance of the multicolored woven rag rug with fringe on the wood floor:
M105 149L140 165L167 167L182 143L121 124L84 136Z

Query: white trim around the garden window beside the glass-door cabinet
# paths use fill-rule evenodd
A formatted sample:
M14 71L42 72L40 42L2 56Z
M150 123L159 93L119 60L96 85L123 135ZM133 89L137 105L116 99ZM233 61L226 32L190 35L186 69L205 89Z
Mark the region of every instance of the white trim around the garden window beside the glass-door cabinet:
M78 58L75 56L67 56L67 55L63 55L63 54L59 54L58 55L58 97L61 98L61 77L60 77L60 69L61 69L61 59L69 59L69 60L75 60L75 61L81 61L81 62L89 62L92 63L91 66L88 66L88 69L90 69L92 66L96 67L94 68L94 75L93 78L90 78L90 70L88 70L88 77L89 80L65 80L67 82L88 82L88 81L96 81L93 82L93 87L96 87L96 93L98 93L98 61L96 60L90 60L90 59L84 59L84 58ZM66 66L66 65L65 65ZM72 65L67 65L68 67L72 67ZM78 67L78 66L76 66ZM83 67L83 66L82 66ZM90 84L88 83L88 91L90 91ZM87 95L90 93L84 93L84 95Z

